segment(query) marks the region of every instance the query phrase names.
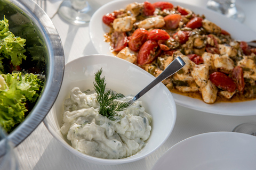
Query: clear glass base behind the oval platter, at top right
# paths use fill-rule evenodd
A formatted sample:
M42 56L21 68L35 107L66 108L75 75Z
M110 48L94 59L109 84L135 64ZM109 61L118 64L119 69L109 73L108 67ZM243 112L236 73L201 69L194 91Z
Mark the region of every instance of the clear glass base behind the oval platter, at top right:
M228 18L244 22L245 14L240 8L237 8L235 0L209 0L206 6Z

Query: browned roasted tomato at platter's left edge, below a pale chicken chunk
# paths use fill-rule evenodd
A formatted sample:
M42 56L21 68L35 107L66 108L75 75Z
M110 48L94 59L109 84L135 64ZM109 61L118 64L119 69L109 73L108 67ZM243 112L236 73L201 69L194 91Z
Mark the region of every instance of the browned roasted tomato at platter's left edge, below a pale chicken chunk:
M127 46L127 36L125 32L115 31L111 35L112 47L115 52L121 51L123 48Z

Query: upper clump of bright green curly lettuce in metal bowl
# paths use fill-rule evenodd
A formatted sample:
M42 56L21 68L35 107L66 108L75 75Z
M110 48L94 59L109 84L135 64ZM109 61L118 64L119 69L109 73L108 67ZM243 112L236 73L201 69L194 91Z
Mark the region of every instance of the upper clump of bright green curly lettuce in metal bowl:
M26 60L27 56L25 47L26 39L15 37L9 30L9 20L4 16L0 20L0 73L4 72L3 60L7 58L13 66L18 66L22 63L22 59Z

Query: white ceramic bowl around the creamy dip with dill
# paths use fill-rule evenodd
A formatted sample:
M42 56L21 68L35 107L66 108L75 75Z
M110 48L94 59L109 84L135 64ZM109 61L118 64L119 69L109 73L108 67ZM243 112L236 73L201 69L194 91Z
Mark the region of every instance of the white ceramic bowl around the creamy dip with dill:
M63 101L69 97L69 91L79 87L82 91L93 89L94 73L102 67L102 77L105 76L107 88L124 95L136 95L155 78L153 75L117 57L107 55L90 55L78 58L65 66L64 78L59 92L49 114L44 120L46 128L60 143L73 154L92 163L114 165L129 163L147 157L161 146L171 134L176 120L176 106L171 92L159 83L139 100L146 112L151 114L152 130L147 145L138 154L123 159L102 159L82 154L72 148L60 132Z

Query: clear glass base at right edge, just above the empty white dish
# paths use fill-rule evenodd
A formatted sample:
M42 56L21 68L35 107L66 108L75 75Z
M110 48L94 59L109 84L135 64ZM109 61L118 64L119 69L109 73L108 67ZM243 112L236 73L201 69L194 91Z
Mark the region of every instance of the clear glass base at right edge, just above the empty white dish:
M243 123L237 125L233 132L246 133L256 136L256 123Z

